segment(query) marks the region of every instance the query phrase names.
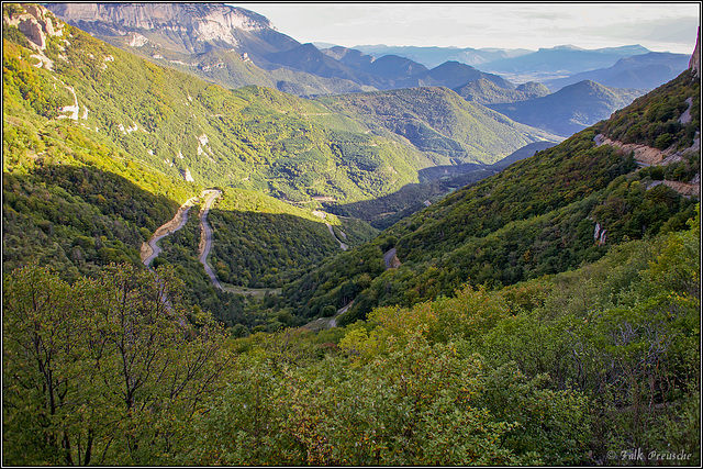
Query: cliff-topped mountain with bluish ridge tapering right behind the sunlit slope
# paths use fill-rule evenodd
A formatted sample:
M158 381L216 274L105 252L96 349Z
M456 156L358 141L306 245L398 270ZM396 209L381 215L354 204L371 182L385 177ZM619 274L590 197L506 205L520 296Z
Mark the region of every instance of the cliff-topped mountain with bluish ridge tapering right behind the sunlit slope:
M514 86L458 62L428 70L400 56L320 51L279 33L254 12L222 4L47 4L59 18L118 47L226 87L259 85L298 96L455 88L479 78ZM148 20L145 20L148 18Z

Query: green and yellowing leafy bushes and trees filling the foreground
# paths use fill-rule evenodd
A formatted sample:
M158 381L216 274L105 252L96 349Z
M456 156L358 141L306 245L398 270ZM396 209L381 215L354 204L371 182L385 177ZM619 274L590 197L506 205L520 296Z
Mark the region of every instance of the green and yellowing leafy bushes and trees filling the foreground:
M576 271L317 334L224 342L198 311L181 327L160 269L16 270L3 462L699 465L698 210Z

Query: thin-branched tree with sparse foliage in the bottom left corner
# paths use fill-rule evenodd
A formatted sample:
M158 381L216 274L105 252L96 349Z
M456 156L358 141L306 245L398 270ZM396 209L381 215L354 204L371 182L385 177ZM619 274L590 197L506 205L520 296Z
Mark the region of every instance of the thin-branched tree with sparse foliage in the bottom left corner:
M224 332L192 326L174 272L112 265L72 286L3 279L4 462L164 464L217 386Z

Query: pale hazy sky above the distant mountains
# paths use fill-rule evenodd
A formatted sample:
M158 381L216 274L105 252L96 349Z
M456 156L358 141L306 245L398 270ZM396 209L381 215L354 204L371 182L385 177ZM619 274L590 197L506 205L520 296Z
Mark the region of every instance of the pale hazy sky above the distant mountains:
M700 2L228 3L301 43L583 48L640 44L693 53Z

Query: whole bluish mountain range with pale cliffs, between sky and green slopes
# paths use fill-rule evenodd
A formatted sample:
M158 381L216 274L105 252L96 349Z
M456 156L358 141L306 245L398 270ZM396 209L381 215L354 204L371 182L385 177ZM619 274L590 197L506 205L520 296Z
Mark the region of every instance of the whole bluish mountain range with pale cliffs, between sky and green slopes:
M118 47L227 88L257 85L314 97L446 87L467 101L491 105L517 122L561 136L607 118L644 92L620 88L651 89L683 70L688 59L639 45L537 52L382 45L321 51L278 32L258 13L225 4L52 3L47 8ZM516 87L505 77L527 82ZM561 94L547 96L579 82Z

